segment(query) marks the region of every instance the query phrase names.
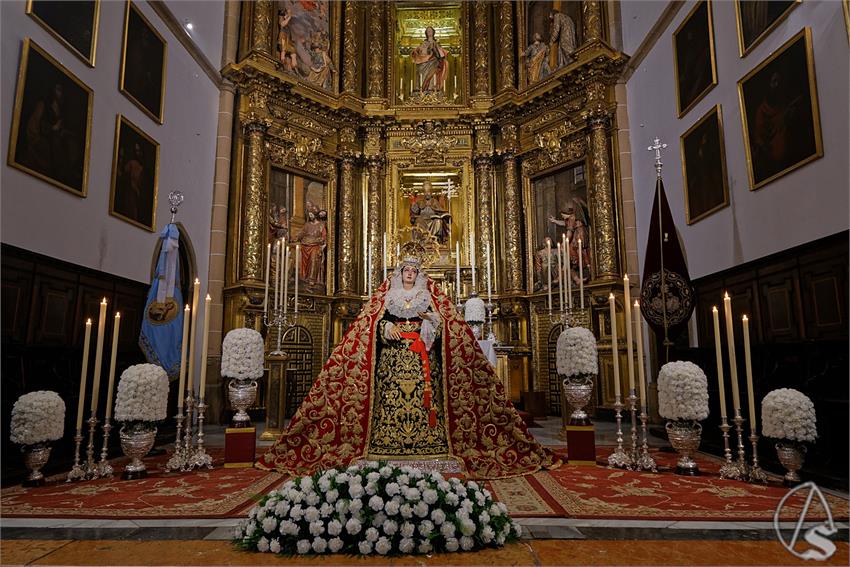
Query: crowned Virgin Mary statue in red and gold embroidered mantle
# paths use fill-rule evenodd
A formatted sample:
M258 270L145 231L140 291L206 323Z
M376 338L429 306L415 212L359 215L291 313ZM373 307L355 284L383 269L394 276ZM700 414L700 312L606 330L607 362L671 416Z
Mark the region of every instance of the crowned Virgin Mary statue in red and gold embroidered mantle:
M469 325L421 270L424 253L405 245L257 467L303 475L360 459L447 460L492 479L560 464L528 433Z

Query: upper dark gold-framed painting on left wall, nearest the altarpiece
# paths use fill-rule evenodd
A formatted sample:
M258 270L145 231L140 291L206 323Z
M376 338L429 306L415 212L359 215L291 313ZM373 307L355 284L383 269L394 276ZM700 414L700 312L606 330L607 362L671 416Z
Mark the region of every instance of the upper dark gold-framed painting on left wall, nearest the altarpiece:
M165 118L167 68L168 44L142 11L128 0L118 90L158 124Z

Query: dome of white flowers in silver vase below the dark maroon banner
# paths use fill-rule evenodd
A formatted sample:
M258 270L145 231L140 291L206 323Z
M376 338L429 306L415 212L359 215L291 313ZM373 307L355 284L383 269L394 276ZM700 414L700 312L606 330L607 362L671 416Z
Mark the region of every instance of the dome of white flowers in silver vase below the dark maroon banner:
M658 373L658 413L672 420L708 417L708 379L692 362L668 362Z

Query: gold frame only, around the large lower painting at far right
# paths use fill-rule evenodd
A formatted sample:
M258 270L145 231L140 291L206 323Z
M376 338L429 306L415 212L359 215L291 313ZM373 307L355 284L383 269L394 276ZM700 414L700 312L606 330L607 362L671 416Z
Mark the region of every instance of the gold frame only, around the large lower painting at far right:
M808 76L809 96L811 97L812 101L810 110L812 112L812 125L814 128L815 136L815 153L789 167L786 167L782 171L779 171L771 175L770 177L756 183L753 174L752 153L750 152L750 135L749 127L747 125L747 109L745 107L744 102L744 83L746 83L754 75L758 74L762 69L772 63L775 59L781 57L789 47L791 47L795 42L800 39L800 37L805 37L806 42L806 74ZM811 28L805 27L799 32L795 33L793 37L791 37L788 41L778 47L769 57L767 57L767 59L759 63L752 71L750 71L749 73L744 75L743 78L738 80L738 102L741 110L741 127L744 130L744 149L747 152L747 177L750 184L750 191L760 189L761 187L764 187L765 185L775 181L776 179L779 179L783 175L790 173L795 169L803 167L804 165L823 157L823 135L821 132L820 125L820 107L818 105L817 81L815 80L815 59L814 51L812 49Z

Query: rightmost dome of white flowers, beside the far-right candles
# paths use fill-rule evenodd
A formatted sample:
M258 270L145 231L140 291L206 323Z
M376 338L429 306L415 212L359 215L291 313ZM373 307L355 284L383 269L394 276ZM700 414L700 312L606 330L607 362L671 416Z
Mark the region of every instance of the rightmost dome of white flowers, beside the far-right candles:
M765 437L814 441L818 436L815 405L804 393L780 388L761 402L761 432Z

